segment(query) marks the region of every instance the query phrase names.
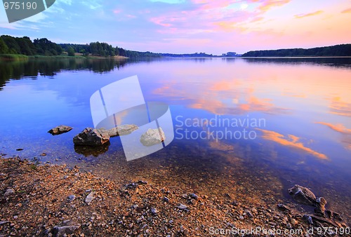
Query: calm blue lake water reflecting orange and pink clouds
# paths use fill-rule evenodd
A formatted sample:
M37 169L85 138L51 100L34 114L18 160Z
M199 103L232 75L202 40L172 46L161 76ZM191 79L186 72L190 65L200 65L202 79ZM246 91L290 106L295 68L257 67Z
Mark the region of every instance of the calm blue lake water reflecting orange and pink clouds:
M72 137L93 127L91 95L133 75L145 100L169 105L173 142L130 162L119 137L101 149L74 148ZM0 62L0 111L6 157L79 164L112 178L175 163L192 177L230 168L235 175L240 164L244 179L279 180L285 200L300 184L350 217L350 58ZM61 124L74 129L47 133ZM266 184L260 189L276 185Z

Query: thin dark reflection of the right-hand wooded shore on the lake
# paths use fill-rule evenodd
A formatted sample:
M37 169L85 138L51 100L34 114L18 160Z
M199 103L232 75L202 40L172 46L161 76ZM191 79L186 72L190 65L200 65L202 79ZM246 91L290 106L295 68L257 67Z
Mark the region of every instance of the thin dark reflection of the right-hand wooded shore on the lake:
M351 57L253 57L253 58L227 58L227 62L233 60L245 60L249 63L272 63L289 65L322 65L329 67L351 68ZM224 59L223 59L224 60Z

